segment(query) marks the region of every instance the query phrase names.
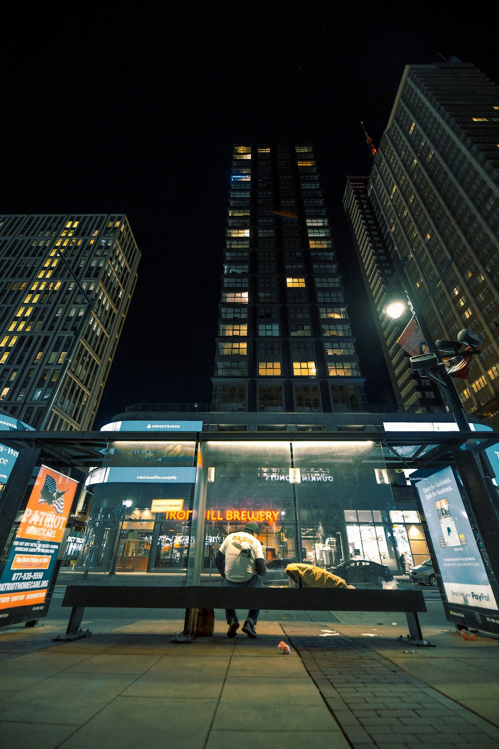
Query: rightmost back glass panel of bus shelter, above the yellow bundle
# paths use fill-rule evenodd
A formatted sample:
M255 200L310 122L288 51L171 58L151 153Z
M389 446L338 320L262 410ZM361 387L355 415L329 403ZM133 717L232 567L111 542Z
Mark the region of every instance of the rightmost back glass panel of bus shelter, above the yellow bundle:
M399 571L389 515L394 498L390 485L376 482L373 465L385 461L368 440L293 443L303 561L355 587L380 587Z

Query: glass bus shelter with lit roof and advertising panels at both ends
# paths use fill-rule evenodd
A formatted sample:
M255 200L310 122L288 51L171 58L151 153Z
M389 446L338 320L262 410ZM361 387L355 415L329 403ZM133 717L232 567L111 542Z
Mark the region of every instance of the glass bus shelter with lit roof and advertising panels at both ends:
M79 539L75 580L123 584L121 575L152 574L163 585L219 584L221 542L253 520L268 584L287 583L289 562L334 569L349 560L366 574L370 568L361 585L381 586L373 569L397 574L402 554L418 563L429 549L447 618L498 634L498 490L490 459L498 442L491 432L227 433L203 431L202 423L175 434L10 432L4 443L19 456L0 496L0 625L46 613L43 590L36 611L29 601L37 580L46 583L50 573L53 581L68 536L73 544ZM59 476L73 482L71 491L59 488ZM68 498L58 504L66 535L36 551L41 540L30 539L29 512L62 523L57 503L42 496L52 481ZM396 485L404 484L414 509L397 500ZM32 576L37 557L50 568L41 577ZM22 580L31 598L16 598L25 593ZM2 598L9 599L4 610Z

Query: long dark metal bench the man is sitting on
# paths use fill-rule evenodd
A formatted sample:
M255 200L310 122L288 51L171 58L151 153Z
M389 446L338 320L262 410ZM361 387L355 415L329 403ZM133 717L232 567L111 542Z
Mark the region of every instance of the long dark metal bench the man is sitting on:
M399 637L412 645L431 645L423 640L419 612L426 611L420 590L330 589L261 587L238 588L224 586L166 586L166 585L68 585L62 601L72 607L66 637L74 640L88 637L81 623L86 607L102 608L170 608L185 609L183 633L176 642L189 641L195 636L199 609L260 608L282 611L391 611L403 612L407 618L408 635Z

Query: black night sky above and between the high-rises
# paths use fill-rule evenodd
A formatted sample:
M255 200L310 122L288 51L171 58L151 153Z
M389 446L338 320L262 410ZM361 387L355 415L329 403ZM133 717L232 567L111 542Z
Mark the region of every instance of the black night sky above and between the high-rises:
M96 428L132 403L211 398L234 142L313 142L368 401L385 401L341 201L371 169L360 123L379 145L405 64L456 56L499 81L484 4L444 5L4 14L0 212L123 212L142 253Z

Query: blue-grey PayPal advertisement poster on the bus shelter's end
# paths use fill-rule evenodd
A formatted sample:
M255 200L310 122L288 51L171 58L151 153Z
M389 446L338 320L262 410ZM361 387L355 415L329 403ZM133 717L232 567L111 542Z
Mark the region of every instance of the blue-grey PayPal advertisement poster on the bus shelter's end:
M447 601L498 610L453 470L433 473L416 488Z

